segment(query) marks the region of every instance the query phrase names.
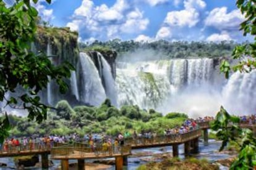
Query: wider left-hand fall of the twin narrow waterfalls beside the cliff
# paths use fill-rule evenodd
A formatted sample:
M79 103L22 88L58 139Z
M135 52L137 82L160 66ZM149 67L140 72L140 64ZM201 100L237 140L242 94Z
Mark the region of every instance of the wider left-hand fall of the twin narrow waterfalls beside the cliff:
M90 105L100 105L106 94L101 79L92 59L84 53L79 54L80 63L80 101Z

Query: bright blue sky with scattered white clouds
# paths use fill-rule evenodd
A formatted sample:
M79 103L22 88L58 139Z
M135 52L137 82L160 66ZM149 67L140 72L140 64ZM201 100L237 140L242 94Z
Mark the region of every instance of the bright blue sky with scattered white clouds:
M79 41L242 42L244 16L236 0L45 0L35 4L43 20L79 32Z

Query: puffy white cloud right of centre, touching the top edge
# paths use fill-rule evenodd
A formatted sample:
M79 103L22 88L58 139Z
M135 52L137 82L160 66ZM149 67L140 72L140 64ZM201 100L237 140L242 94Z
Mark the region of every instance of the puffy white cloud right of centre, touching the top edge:
M202 0L186 0L184 1L184 10L174 10L168 12L164 23L169 26L195 26L199 21L199 10L206 7Z

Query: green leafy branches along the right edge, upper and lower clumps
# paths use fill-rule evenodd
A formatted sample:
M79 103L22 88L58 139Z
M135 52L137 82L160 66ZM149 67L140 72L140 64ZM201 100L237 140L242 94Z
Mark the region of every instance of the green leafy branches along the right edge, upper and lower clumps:
M250 34L254 36L254 42L236 46L233 51L233 59L239 60L238 64L231 65L228 61L221 62L220 70L229 77L230 71L240 71L249 73L256 68L256 6L255 0L237 0L237 7L245 16L245 21L241 23L241 30L244 36ZM241 129L235 125L239 123L239 118L228 114L223 107L216 115L211 128L218 131L216 136L223 140L220 150L228 142L236 142L240 149L236 160L231 164L230 169L255 169L256 166L256 138L249 129Z

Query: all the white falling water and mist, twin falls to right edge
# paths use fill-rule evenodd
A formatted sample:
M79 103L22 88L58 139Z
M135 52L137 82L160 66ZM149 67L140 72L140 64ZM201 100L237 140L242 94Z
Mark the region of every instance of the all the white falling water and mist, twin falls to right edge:
M94 59L98 68L91 57L80 53L77 70L71 73L72 94L79 102L97 106L108 98L117 107L139 105L192 117L215 115L221 105L239 115L256 110L255 71L234 73L226 80L213 59L150 60L118 62L114 79L103 55ZM51 95L49 87L49 103Z

